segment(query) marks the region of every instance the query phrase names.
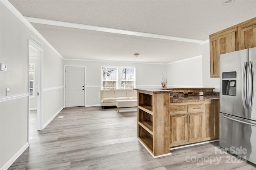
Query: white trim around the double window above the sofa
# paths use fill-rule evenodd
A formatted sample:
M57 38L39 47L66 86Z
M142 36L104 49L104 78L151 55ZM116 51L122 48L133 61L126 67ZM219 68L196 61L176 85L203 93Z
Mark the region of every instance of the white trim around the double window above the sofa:
M117 68L117 87L121 89L121 68L134 68L134 88L136 88L136 67L135 66L100 66L100 90L102 90L102 67Z

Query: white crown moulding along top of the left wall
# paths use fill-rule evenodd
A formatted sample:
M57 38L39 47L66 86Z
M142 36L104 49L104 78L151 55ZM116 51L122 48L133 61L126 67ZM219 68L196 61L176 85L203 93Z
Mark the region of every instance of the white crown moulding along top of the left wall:
M22 23L24 23L33 33L35 33L46 45L48 45L62 60L64 57L56 50L52 45L33 27L33 25L28 22L22 14L8 1L8 0L1 0L0 3L4 4ZM29 38L28 38L29 39Z

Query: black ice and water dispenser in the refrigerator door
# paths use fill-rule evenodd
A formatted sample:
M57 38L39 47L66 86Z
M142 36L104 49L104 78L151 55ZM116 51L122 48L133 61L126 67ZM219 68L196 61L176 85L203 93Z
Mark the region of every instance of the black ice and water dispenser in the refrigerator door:
M222 72L222 95L236 96L236 71Z

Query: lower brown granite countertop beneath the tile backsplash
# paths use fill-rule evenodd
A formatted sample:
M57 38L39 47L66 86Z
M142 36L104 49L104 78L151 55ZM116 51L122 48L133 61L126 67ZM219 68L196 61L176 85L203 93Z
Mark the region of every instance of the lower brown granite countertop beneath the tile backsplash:
M220 100L220 96L208 95L208 96L188 96L188 97L178 97L170 98L170 103L185 103L185 102L204 102Z

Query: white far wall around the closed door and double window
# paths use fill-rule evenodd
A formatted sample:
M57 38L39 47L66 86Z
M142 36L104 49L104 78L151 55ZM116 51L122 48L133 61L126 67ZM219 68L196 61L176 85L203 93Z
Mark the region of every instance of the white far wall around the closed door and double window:
M86 106L100 106L100 68L101 66L136 67L136 88L161 87L161 73L166 64L141 64L104 61L64 60L66 66L86 66ZM94 100L96 99L96 102Z

